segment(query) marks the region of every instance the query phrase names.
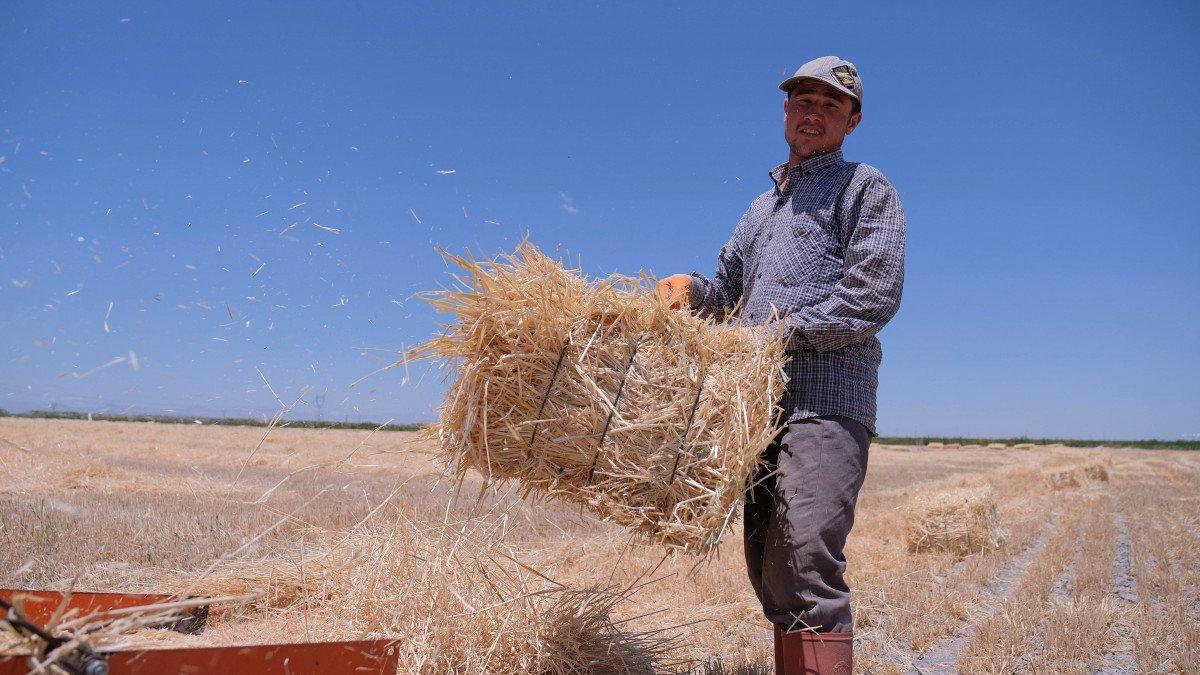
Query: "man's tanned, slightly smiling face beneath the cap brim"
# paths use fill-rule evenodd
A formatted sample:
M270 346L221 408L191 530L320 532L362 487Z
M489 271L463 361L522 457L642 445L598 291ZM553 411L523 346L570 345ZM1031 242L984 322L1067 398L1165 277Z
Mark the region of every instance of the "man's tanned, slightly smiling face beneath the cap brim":
M863 113L854 112L854 100L815 79L802 79L784 101L784 138L798 162L841 148Z

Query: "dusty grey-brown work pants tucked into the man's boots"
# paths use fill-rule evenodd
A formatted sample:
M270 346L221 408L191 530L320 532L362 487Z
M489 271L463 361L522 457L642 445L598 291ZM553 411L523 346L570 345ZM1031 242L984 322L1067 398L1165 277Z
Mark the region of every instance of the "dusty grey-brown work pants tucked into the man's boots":
M763 614L784 628L853 629L842 546L871 435L848 417L790 423L746 494L745 555Z

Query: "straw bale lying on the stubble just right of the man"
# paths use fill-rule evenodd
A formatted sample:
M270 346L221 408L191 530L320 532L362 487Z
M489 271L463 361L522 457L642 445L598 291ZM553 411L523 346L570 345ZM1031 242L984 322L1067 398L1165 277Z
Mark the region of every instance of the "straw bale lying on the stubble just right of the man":
M958 556L998 548L1004 534L991 488L955 488L910 503L905 518L908 552Z

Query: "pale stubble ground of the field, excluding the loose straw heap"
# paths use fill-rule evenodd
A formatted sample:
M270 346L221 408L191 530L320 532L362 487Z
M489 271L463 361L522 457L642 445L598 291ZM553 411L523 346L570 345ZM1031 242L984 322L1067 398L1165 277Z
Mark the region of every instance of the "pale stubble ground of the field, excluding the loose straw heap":
M698 671L770 670L739 525L709 561L664 560L577 508L476 501L479 484L457 490L412 434L276 429L256 450L263 434L0 419L0 585L164 590L239 548L288 555L349 530L390 496L415 522L503 519L511 554L562 584L649 581L617 613L680 627L674 655ZM998 548L908 552L911 504L984 485ZM860 671L1200 671L1196 453L875 446L846 557Z

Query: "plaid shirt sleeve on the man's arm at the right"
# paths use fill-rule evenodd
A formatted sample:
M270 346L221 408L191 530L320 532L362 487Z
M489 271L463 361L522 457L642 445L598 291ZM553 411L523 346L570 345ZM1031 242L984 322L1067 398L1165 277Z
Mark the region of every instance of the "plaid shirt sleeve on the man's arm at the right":
M800 348L829 352L866 340L900 309L905 251L900 197L882 174L872 172L852 181L845 198L848 237L841 279L828 298L784 319Z

